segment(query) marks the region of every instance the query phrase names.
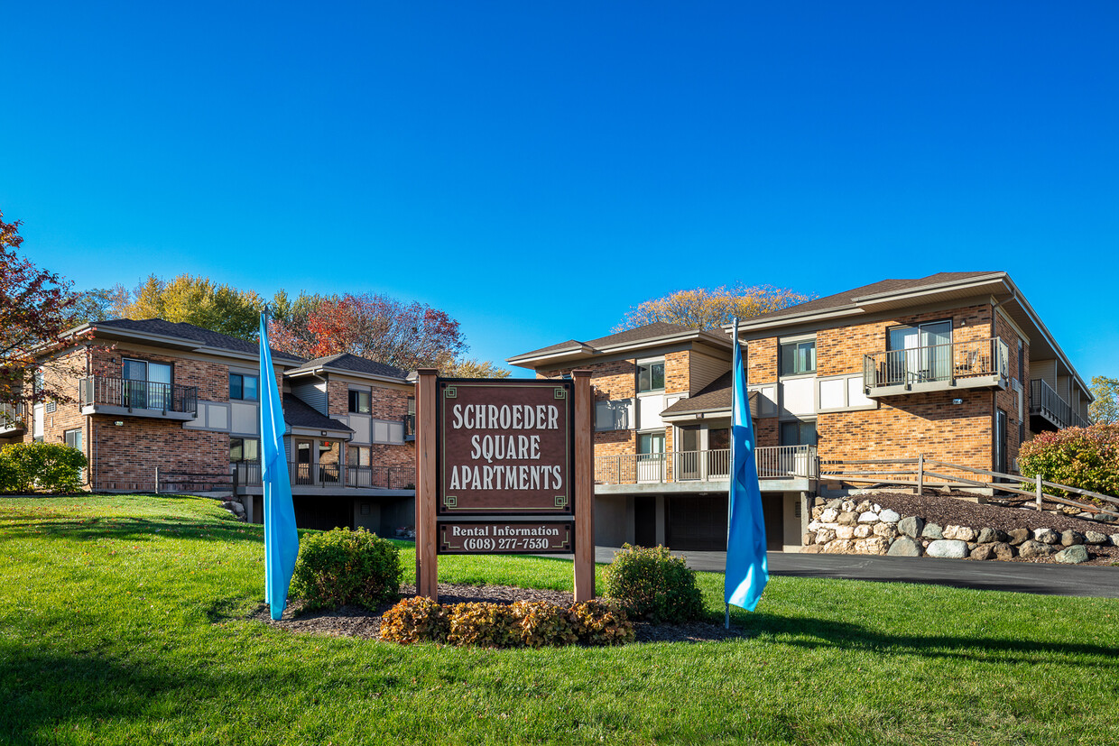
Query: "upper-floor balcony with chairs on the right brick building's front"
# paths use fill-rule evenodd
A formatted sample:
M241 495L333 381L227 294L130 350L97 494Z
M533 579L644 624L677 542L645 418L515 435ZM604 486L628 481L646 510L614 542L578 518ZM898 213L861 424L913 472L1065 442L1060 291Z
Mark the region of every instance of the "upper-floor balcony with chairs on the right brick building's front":
M1010 349L998 337L863 356L867 396L899 396L963 388L1007 388Z

